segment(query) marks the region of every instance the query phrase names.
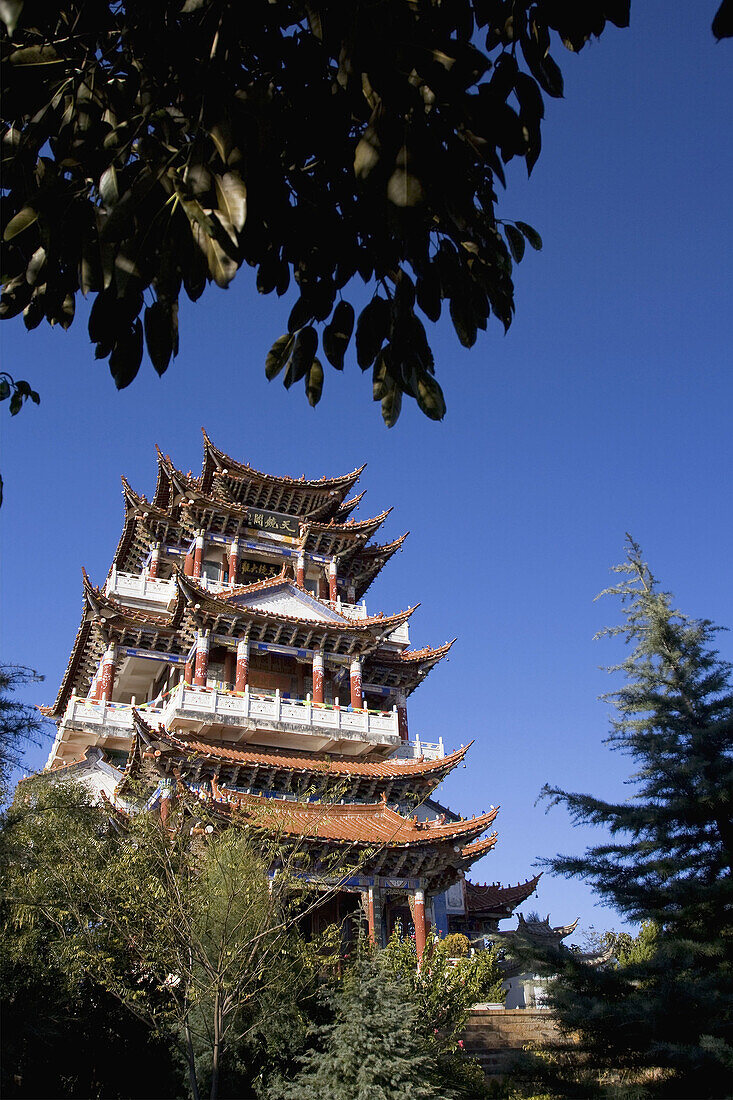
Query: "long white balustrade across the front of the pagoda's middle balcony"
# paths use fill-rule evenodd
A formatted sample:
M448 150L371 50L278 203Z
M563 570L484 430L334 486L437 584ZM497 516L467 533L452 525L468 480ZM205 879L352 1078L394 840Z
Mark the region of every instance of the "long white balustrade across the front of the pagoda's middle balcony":
M297 726L314 733L332 733L355 740L395 744L400 736L397 712L351 711L347 707L313 703L309 698L284 698L280 692L261 695L249 690L240 693L178 684L163 712L169 729L186 715L215 723L251 727Z

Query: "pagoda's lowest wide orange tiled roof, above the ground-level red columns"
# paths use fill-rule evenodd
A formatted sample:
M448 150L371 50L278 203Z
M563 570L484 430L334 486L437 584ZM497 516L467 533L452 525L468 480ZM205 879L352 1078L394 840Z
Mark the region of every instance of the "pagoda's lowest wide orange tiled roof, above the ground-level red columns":
M484 833L499 813L495 809L467 821L438 824L403 817L391 810L386 802L332 805L265 799L256 794L220 790L215 780L211 781L211 788L215 801L237 805L252 824L262 828L288 836L348 844L401 847L472 839ZM489 847L493 847L495 834L493 839L490 837L488 840L491 842ZM485 843L481 842L482 845ZM469 848L473 847L475 845L469 845ZM469 848L464 848L463 853L468 853Z

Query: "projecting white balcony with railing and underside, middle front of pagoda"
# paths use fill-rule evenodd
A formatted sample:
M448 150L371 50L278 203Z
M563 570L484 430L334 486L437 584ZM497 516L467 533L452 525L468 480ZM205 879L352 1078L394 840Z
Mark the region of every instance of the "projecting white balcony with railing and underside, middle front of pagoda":
M350 711L310 700L242 694L178 684L163 711L169 730L188 730L231 740L359 755L401 744L396 711Z

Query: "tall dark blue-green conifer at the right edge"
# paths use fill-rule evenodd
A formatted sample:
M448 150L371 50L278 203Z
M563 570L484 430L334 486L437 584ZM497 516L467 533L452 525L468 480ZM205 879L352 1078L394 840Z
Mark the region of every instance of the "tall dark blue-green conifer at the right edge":
M597 1082L641 1082L641 1094L729 1097L733 1069L733 686L713 648L718 627L674 609L630 538L620 583L630 656L604 696L609 744L636 765L633 795L605 802L548 787L576 824L611 837L545 861L592 883L655 936L623 967L589 968L570 953L555 983L562 1023L581 1036ZM602 595L605 593L602 593ZM555 960L557 965L557 959ZM588 1078L576 1082L588 1094ZM613 1091L613 1089L611 1089ZM566 1096L572 1094L566 1082Z

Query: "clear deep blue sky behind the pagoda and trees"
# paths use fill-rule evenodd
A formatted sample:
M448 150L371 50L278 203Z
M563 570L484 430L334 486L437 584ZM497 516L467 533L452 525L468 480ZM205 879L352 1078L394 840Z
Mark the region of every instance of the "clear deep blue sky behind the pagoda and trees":
M516 882L538 856L591 833L535 805L544 782L615 798L630 763L602 745L617 656L593 642L617 619L593 602L632 531L691 614L733 624L731 256L733 45L710 34L715 3L633 4L572 56L555 54L566 98L547 107L532 179L510 173L501 215L541 233L516 271L510 333L467 352L434 334L448 402L440 425L406 402L387 431L353 360L327 370L314 411L303 391L267 384L264 356L288 300L258 296L243 271L182 308L182 351L158 380L144 363L118 394L73 328L0 332L4 369L41 392L2 411L4 659L46 676L54 697L78 626L80 566L103 580L122 522L119 475L151 494L153 444L200 465L200 426L259 469L314 477L369 463L359 516L391 505L383 534L411 537L368 594L418 601L416 646L458 636L413 696L411 732L472 738L439 796L464 814L501 805L478 881ZM721 650L733 658L730 636ZM41 759L36 755L33 760ZM540 882L528 908L556 923L620 927L581 883Z

